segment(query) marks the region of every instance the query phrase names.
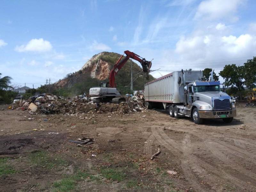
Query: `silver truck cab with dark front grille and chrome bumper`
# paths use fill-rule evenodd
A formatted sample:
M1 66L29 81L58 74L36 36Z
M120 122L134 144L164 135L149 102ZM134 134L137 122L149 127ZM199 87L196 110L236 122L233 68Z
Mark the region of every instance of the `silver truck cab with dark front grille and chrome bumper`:
M195 123L201 123L205 118L223 119L229 123L236 116L230 96L220 91L220 82L194 81L185 87L184 93Z

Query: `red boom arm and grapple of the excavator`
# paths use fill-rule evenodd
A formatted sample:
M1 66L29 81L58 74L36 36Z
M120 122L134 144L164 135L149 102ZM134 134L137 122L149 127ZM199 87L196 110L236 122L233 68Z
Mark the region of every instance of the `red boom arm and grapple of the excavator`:
M115 82L116 74L130 58L140 62L144 73L148 73L149 69L151 68L151 61L147 61L144 58L140 57L139 55L137 55L133 52L130 52L128 50L125 51L124 53L126 54L126 57L122 60L122 58L124 57L124 55L122 55L119 58L119 60L116 62L116 64L114 65L114 68L109 73L109 86L110 87L116 87L116 82Z

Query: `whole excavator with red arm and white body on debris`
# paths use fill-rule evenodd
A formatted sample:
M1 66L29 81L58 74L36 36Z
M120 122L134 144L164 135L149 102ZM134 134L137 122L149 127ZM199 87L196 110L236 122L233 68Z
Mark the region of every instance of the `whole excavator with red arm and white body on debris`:
M126 57L122 60L124 55L122 55L119 60L116 62L114 68L109 73L109 82L101 83L100 87L90 88L90 97L93 98L93 101L96 103L99 102L113 102L120 103L125 101L125 98L121 97L120 92L116 90L116 74L124 66L124 64L131 58L140 62L142 66L142 71L148 75L149 69L151 68L151 61L145 60L145 58L140 57L139 55L125 51Z

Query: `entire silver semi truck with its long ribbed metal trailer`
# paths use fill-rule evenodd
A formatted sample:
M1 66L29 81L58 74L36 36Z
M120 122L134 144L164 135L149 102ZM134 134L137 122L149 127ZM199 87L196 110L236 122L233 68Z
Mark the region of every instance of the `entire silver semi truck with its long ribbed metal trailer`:
M196 124L204 119L230 123L236 116L230 96L220 91L220 82L203 81L203 71L175 71L145 84L145 106L161 104L171 117L186 116Z

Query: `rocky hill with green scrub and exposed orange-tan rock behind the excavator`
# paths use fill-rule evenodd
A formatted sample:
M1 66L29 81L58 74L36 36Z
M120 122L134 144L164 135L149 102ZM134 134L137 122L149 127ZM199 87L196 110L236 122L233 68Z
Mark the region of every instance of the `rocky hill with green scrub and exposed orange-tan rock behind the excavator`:
M90 87L99 86L100 82L108 82L109 72L120 56L114 52L101 52L94 55L81 70L70 73L64 79L56 82L53 85L54 92L63 96L73 96L81 92L88 93ZM117 89L122 93L130 90L131 62L133 79L136 79L133 82L133 90L143 90L144 84L154 79L151 75L149 75L148 80L140 76L143 73L141 72L142 68L137 63L128 60L116 75Z

